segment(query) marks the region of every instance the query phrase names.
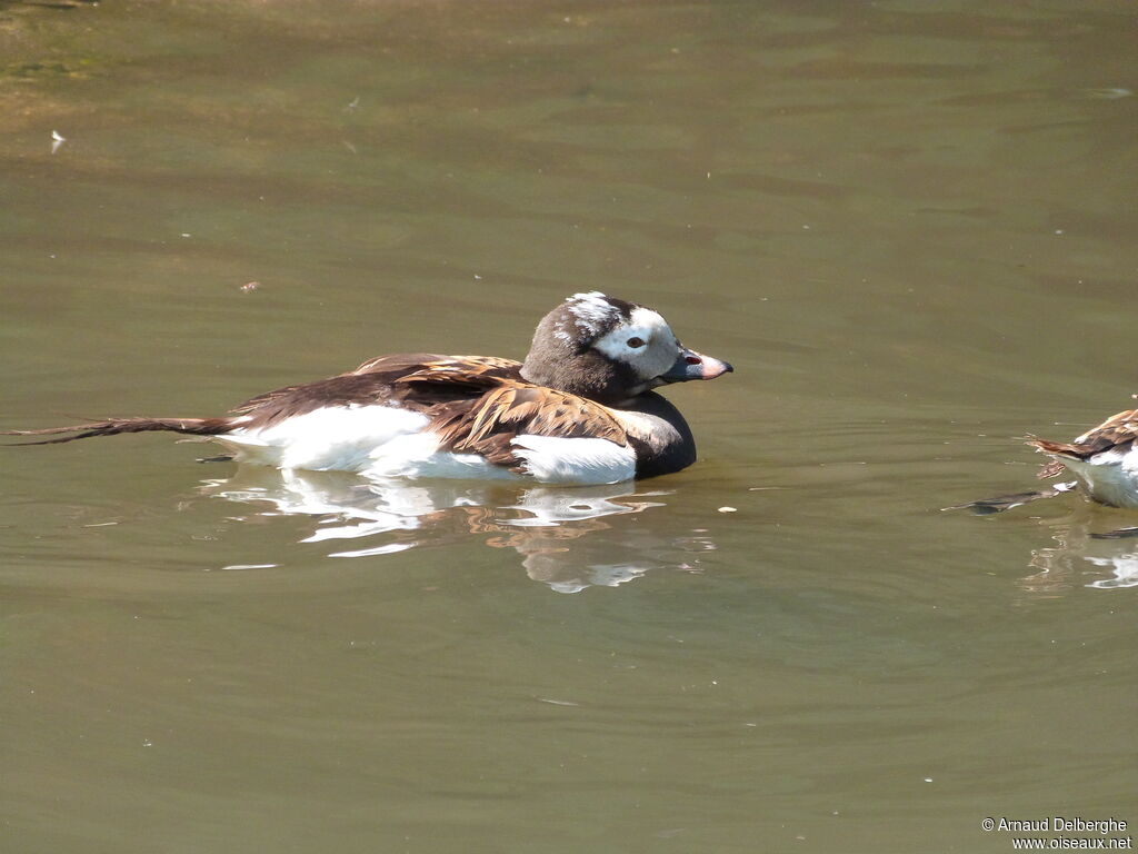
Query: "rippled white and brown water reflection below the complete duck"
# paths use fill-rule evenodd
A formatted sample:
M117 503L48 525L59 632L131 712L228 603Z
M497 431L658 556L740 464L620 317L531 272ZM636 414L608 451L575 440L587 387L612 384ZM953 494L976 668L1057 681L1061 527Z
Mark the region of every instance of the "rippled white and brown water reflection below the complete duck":
M329 557L365 558L483 536L485 545L513 549L527 575L563 593L617 586L650 569L696 572L702 535L675 537L651 526L624 526L616 517L663 507L661 491L635 484L518 487L486 482L364 479L340 471L240 467L233 477L205 481L201 492L238 502L266 502L261 516L310 516L315 529L300 542L335 542ZM589 542L593 536L595 542ZM346 540L382 537L364 548Z

